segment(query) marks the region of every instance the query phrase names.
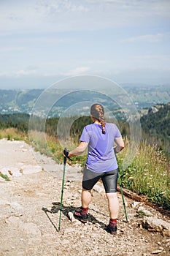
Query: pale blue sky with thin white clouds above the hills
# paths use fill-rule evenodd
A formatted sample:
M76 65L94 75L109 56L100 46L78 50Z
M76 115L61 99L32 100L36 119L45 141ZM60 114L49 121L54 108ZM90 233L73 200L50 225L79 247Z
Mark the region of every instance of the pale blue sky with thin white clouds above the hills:
M0 89L74 75L169 84L169 0L0 0Z

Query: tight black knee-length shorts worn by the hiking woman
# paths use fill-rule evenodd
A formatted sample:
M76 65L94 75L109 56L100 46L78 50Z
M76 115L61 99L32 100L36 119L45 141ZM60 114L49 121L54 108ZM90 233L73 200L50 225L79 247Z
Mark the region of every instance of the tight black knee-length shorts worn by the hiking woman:
M82 188L85 190L93 189L100 178L104 184L106 193L117 192L118 168L105 173L94 173L85 166L83 170Z

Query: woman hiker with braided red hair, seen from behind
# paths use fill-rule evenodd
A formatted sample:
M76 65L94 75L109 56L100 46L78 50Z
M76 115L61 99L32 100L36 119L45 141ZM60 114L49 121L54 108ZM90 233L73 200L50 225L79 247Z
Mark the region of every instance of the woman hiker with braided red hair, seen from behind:
M82 154L88 147L88 157L82 178L82 206L74 211L74 217L81 222L88 221L88 206L91 201L91 189L101 178L107 195L109 208L109 225L107 232L117 233L117 216L119 202L117 198L118 165L116 153L124 148L123 138L115 124L107 123L104 119L104 108L94 104L90 108L93 124L84 127L80 137L80 144L72 151L63 151L66 157ZM115 151L113 149L116 143Z

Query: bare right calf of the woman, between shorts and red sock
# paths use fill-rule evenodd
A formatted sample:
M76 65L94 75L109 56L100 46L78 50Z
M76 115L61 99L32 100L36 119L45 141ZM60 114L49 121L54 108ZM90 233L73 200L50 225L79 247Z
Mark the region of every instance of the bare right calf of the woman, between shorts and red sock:
M117 219L119 212L119 200L117 197L117 192L107 193L108 208L110 219Z

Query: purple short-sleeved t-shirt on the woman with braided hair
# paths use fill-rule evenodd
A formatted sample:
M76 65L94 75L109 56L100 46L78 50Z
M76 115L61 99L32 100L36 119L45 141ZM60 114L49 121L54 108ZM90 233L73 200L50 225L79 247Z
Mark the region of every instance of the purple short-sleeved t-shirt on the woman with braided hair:
M106 133L102 133L100 124L88 124L84 127L80 141L88 143L86 165L95 173L104 173L117 169L117 159L113 150L115 138L121 134L115 124L106 123Z

